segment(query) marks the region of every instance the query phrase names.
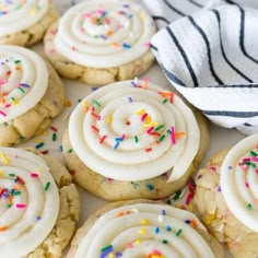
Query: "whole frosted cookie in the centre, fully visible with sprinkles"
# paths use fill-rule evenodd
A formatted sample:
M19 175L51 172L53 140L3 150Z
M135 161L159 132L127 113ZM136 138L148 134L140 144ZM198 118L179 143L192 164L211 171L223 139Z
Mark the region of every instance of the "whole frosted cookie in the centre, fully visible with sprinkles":
M122 81L73 110L63 154L74 180L107 200L164 198L181 188L209 142L206 120L173 92Z

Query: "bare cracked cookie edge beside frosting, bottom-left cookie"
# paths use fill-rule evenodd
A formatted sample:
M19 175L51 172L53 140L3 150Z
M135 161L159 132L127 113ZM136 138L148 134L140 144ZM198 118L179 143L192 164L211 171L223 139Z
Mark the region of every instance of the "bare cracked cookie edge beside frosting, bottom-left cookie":
M59 258L75 231L80 213L80 197L66 167L52 156L40 155L40 157L48 164L59 189L60 209L50 234L26 258Z

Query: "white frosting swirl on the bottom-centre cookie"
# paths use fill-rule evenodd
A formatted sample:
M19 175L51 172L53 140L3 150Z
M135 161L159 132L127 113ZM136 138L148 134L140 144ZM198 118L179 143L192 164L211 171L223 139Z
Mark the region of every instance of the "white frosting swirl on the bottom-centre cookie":
M103 214L93 224L74 257L215 257L189 225L192 222L206 231L188 211L153 203L124 206Z

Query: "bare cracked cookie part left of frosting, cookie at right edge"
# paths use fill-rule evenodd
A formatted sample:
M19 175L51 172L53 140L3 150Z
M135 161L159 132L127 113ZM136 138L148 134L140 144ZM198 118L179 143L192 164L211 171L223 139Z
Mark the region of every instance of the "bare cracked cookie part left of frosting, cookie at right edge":
M236 258L257 257L258 234L247 228L230 211L220 187L220 167L230 149L212 156L196 177L194 198L199 218Z

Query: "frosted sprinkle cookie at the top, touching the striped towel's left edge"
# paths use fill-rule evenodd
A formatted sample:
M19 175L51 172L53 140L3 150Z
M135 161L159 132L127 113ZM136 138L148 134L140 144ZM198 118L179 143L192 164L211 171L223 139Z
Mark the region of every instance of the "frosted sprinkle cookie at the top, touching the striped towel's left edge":
M45 37L45 51L62 77L93 84L133 79L154 58L152 17L139 4L87 0L69 9Z

